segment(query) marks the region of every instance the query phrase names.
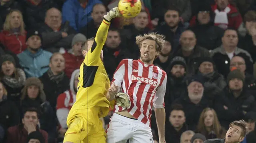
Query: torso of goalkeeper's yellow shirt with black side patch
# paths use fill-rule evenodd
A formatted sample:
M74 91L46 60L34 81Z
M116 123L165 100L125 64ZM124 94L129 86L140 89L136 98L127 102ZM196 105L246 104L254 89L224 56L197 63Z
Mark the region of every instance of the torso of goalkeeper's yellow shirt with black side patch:
M93 106L108 108L109 101L106 93L109 87L108 74L101 60L95 66L86 66L82 63L74 105L79 105L80 108L92 108Z

